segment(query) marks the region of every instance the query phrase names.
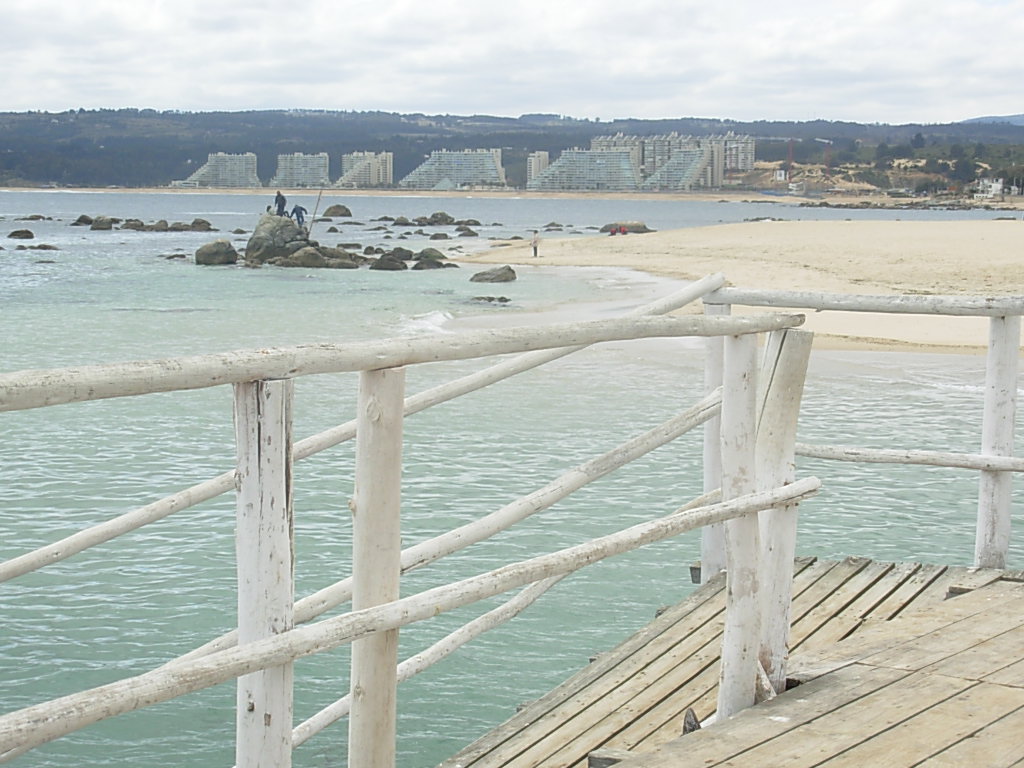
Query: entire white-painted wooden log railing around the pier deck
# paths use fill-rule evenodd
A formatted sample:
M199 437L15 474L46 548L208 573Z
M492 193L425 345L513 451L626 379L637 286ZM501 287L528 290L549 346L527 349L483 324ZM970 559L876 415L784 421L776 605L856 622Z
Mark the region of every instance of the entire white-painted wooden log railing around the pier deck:
M230 384L238 445L233 470L0 563L0 581L101 545L228 492L236 484L239 570L236 633L142 675L0 716L0 760L91 723L238 679L240 768L290 765L294 746L346 714L348 765L391 768L395 760L395 686L400 680L516 614L564 575L698 527L706 531L705 578L724 568L728 579L718 717L751 706L759 695L780 690L785 675L796 507L819 485L813 477L798 480L795 475L797 417L812 340L809 333L795 330L802 322L800 315L731 316L731 304L992 316L986 426L980 455L905 452L895 456L891 452L821 446L800 446L799 453L979 469L983 480L979 561L991 564L1000 548L1005 558L1009 541L1009 504L1004 504L1009 485L1005 478L1009 471L1022 468L1012 458L1012 437L1019 315L1024 311L1024 298L837 297L739 291L723 285L721 275L711 275L616 321L0 374L0 411ZM700 297L708 316L648 316ZM759 362L760 334L769 335ZM708 339L708 391L700 401L496 512L401 549L398 478L406 416L589 344L655 336ZM505 353L518 356L406 396L408 366ZM358 373L356 419L293 444L292 381L337 372ZM663 518L399 599L402 572L506 529L701 424L706 437L706 494L701 498ZM353 437L352 575L294 601L292 463ZM398 664L398 628L518 588L526 589L505 606ZM352 602L350 612L313 622L348 600ZM345 643L352 644L349 695L294 726L292 664Z

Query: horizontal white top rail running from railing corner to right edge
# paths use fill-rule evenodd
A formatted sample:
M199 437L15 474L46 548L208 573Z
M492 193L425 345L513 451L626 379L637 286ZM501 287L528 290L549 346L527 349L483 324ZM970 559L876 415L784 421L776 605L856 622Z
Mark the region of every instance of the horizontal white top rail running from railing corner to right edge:
M995 316L1024 314L1024 296L870 296L813 291L765 291L721 288L705 297L708 304L835 309L844 312L895 312L901 314L951 314Z

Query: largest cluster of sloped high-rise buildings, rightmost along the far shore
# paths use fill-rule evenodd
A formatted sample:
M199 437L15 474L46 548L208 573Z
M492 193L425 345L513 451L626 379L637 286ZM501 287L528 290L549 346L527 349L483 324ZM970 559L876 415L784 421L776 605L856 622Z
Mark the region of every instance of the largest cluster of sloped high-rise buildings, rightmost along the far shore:
M596 136L589 151L563 152L547 170L527 178L526 188L685 191L721 187L728 171L753 168L751 136L616 133Z

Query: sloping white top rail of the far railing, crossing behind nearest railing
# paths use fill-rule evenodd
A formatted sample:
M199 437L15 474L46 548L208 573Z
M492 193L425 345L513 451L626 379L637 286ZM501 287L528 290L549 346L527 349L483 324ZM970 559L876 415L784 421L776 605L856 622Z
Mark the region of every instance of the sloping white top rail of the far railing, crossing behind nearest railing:
M643 304L635 310L626 313L624 316L643 316L669 312L696 301L709 292L721 288L724 284L725 278L721 273L710 274L669 296ZM469 374L408 397L406 399L406 416L411 416L432 406L446 402L463 394L476 391L489 384L503 381L511 376L532 370L546 362L585 348L586 345L581 345L524 352L512 359L503 360L490 366L483 371ZM301 461L321 451L350 440L354 436L355 420L353 419L345 424L332 427L324 432L297 441L292 452L293 460ZM0 582L14 579L50 563L59 562L97 544L109 542L142 525L163 519L169 514L209 501L220 494L227 493L233 487L234 472L224 472L210 480L205 480L189 488L161 499L158 502L154 502L132 512L127 512L85 530L80 530L61 539L59 542L2 562L0 563Z

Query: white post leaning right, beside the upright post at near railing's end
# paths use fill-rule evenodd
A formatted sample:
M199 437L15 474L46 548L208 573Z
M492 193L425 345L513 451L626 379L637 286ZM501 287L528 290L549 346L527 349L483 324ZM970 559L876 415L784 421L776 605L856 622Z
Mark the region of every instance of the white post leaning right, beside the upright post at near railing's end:
M768 335L759 376L758 490L796 479L797 422L814 334L787 329ZM761 530L761 666L776 692L785 689L797 505L766 509Z

